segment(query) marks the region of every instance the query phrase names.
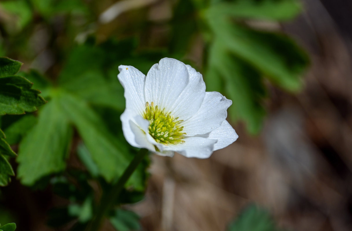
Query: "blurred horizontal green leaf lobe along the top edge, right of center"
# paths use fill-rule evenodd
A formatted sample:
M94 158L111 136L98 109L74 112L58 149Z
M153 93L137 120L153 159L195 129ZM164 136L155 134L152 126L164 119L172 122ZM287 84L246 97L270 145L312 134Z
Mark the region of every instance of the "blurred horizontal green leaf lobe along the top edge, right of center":
M213 4L211 17L228 15L235 18L289 20L297 16L302 6L297 0L235 0Z

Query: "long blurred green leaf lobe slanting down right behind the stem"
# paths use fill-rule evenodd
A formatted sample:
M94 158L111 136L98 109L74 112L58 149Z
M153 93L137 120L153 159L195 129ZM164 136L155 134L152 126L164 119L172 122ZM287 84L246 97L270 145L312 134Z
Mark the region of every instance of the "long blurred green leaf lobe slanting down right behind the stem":
M115 139L105 127L101 118L85 101L65 93L60 98L63 113L73 122L87 146L100 174L109 182L119 177L132 160L125 143ZM127 185L144 188L144 168L131 176Z

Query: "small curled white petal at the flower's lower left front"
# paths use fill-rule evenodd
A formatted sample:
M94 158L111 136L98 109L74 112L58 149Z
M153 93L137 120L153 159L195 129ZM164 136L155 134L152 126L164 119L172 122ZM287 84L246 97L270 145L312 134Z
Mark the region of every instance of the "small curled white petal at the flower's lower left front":
M127 142L137 148L147 148L152 151L155 150L154 146L147 140L144 131L134 121L133 116L133 111L126 109L120 117L122 131Z

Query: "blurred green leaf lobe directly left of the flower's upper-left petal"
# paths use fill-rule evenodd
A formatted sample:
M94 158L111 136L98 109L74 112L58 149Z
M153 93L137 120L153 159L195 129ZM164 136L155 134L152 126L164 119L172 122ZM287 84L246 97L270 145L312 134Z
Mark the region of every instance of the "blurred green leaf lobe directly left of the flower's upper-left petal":
M114 62L106 60L107 53L101 47L78 46L70 54L59 82L62 88L90 103L123 110L123 89L116 81L118 69L113 76L107 76L113 64L106 62Z

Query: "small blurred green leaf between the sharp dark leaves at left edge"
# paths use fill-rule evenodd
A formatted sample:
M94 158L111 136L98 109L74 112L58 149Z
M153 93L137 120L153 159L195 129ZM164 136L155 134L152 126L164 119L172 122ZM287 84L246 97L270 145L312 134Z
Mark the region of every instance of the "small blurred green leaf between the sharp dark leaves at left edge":
M6 141L10 145L19 143L23 136L37 123L37 117L26 115L5 129ZM1 145L0 145L1 146Z

